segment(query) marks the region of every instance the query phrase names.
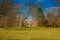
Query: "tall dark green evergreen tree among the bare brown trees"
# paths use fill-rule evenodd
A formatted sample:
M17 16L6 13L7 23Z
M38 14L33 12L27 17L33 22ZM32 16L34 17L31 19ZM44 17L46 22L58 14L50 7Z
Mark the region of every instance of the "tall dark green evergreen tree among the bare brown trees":
M34 19L35 19L35 22L36 22L36 25L38 27L43 27L44 26L44 21L45 21L43 11L40 8L38 8L36 11L37 12L34 13L34 15L33 15Z

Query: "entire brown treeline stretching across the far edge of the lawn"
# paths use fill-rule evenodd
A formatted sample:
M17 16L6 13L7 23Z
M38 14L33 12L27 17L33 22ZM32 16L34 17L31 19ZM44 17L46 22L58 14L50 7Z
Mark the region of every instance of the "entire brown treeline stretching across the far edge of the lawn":
M35 6L35 3L30 3L28 13L20 15L20 7L11 0L0 2L0 27L60 27L60 8L57 8L57 13L47 11L44 15L41 4ZM33 19L28 23L26 20L30 14Z

